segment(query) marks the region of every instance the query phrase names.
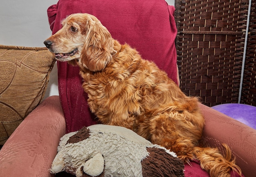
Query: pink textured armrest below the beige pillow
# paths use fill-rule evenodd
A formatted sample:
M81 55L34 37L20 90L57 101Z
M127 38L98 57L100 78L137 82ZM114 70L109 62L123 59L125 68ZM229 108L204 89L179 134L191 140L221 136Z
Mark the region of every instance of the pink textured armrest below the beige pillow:
M0 151L2 177L50 177L49 168L65 134L59 96L46 98L21 122Z

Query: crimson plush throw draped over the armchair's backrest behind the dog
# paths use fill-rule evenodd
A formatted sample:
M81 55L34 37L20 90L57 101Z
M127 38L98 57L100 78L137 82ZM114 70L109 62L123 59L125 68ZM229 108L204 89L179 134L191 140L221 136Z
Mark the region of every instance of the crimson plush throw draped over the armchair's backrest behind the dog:
M59 0L49 7L48 17L54 34L67 15L96 16L114 39L136 48L144 59L154 61L177 83L174 10L164 0ZM81 82L79 68L58 62L58 88L67 132L96 123Z

